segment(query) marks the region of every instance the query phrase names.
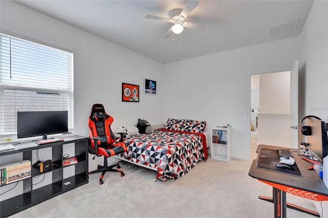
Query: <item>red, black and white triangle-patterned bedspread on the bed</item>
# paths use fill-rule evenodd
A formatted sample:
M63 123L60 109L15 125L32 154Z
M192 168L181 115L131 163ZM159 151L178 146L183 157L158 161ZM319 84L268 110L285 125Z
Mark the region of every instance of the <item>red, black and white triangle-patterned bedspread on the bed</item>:
M173 130L127 137L128 150L120 154L129 161L157 169L156 179L177 179L205 160L202 138L196 134ZM206 141L204 142L206 143ZM205 149L205 152L207 150Z

